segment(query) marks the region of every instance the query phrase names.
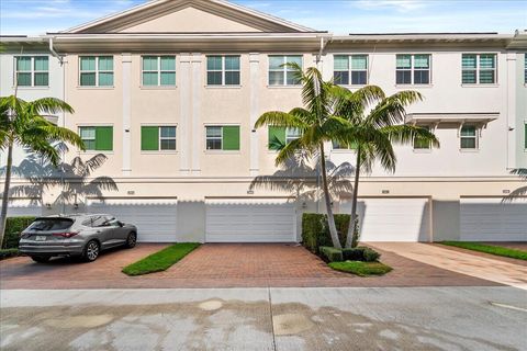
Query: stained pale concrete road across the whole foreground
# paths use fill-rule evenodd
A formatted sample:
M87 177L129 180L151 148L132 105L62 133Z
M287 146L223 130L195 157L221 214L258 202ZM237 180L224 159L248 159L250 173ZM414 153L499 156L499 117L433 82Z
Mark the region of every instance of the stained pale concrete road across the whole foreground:
M514 287L0 291L2 350L526 350Z

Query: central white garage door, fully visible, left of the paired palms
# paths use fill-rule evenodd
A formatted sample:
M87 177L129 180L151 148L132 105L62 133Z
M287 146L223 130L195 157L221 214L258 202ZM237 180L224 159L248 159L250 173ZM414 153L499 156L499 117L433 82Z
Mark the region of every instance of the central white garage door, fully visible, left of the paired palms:
M281 200L206 201L208 242L296 241L294 204Z

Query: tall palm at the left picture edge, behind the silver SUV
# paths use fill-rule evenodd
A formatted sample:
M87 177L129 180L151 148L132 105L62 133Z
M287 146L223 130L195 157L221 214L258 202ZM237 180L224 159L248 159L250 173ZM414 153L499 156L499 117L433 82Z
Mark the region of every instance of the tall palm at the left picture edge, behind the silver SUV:
M60 112L74 113L74 109L55 98L43 98L31 102L16 95L0 98L0 150L8 150L0 213L0 246L5 231L13 147L19 145L31 149L49 159L53 165L57 165L60 158L57 149L53 147L55 141L67 141L85 149L82 140L75 132L56 126L45 118L47 114Z

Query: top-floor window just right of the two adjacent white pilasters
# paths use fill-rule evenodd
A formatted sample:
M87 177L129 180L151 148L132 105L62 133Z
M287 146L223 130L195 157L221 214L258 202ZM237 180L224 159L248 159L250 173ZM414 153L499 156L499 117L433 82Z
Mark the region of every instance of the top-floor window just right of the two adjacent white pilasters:
M239 86L239 56L208 56L208 86Z

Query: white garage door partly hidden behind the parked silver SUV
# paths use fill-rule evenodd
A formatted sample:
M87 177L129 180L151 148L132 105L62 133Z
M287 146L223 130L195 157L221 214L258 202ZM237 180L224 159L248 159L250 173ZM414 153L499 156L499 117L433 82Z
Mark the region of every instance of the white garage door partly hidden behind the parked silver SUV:
M105 199L90 201L90 213L108 213L137 226L137 240L175 242L177 240L177 200Z

